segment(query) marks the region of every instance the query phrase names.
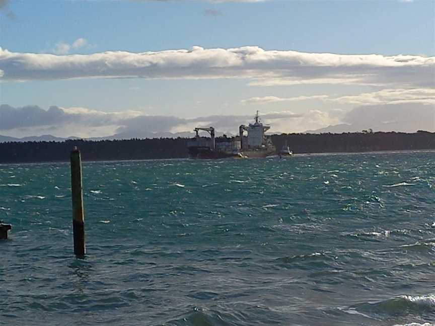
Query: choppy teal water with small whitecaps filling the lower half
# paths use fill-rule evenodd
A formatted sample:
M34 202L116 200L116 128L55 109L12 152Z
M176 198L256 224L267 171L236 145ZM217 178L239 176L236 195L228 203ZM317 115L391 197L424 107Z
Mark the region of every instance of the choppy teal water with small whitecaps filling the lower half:
M0 324L435 320L435 152L0 166Z

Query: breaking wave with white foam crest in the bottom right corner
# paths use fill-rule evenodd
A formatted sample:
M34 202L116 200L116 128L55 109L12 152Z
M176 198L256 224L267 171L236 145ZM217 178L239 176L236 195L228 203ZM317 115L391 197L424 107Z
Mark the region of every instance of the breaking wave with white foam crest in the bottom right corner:
M435 312L435 294L401 295L374 303L365 302L350 307L359 312L397 315L419 315Z

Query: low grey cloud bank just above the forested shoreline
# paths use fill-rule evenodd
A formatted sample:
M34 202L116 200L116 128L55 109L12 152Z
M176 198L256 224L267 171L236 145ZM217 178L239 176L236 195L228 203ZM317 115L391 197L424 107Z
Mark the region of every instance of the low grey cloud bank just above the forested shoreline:
M309 110L263 112L262 121L271 124L271 132L347 132L372 128L374 131L435 131L435 106L422 103L396 103L358 106L349 112ZM0 106L0 134L111 138L147 138L192 136L197 126L213 126L219 133L236 134L241 124L253 120L251 115L202 116L180 118L152 116L138 111L103 112L88 108L44 110L38 106L14 108ZM326 127L325 126L329 126Z

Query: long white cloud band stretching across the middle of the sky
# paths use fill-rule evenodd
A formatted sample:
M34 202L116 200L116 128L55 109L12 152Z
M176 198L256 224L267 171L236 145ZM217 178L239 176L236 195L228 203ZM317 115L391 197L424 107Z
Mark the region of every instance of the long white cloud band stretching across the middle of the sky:
M391 88L434 86L435 57L231 49L167 50L89 55L10 52L0 48L4 80L87 77L250 78L252 85L361 84Z

